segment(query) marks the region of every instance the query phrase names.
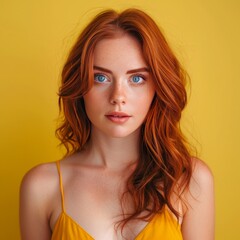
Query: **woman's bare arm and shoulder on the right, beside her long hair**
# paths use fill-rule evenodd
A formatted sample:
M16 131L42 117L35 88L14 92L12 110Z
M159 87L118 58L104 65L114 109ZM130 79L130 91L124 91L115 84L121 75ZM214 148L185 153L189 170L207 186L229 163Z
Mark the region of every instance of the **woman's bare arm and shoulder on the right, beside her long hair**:
M187 209L183 217L184 240L214 240L214 183L209 168L194 160L194 170L186 194Z

